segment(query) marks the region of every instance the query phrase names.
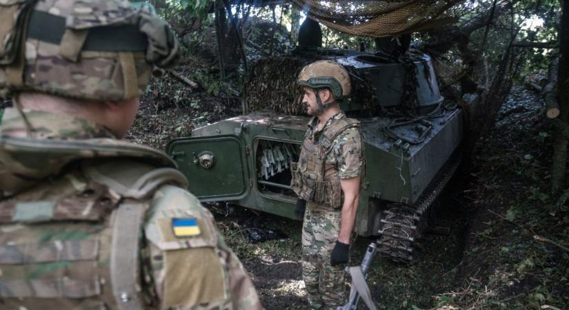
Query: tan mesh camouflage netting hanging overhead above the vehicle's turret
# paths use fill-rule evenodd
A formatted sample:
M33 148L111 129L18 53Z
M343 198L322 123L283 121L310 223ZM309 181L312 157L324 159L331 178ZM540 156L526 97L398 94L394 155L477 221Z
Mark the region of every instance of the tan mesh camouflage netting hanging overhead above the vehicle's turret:
M388 37L396 34L437 28L455 21L446 10L462 0L293 0L329 28L363 37Z

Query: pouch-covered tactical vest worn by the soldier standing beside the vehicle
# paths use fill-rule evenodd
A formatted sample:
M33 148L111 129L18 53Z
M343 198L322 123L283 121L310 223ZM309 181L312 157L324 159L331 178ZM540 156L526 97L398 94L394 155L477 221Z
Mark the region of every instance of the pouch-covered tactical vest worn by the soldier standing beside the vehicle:
M299 161L292 163L291 167L291 187L299 198L327 209L341 209L343 193L339 171L334 165L327 164L326 158L332 152L335 139L353 127L359 127L359 121L352 118L335 119L315 141L308 136L304 139Z

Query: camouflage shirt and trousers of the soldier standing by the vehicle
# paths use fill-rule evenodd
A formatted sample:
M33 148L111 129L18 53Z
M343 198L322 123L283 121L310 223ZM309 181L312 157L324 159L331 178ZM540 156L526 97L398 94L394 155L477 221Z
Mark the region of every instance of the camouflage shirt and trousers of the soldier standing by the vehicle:
M317 147L315 152L316 156L326 154L324 155L326 156L323 169L324 176L321 178L327 180L323 183L324 185L320 186L317 182L314 191L316 193L306 196L306 192L310 192L306 186L306 172L304 172L305 176L298 176L298 174L293 176L293 188L297 190L299 197L308 200L302 231L302 273L311 309L336 309L342 302L346 301L347 297L346 275L343 267L332 267L330 265L330 253L335 247L340 231L343 199L341 196L339 199L318 199L321 194L317 193L324 192L325 196L341 195L341 188L337 189L330 186L332 180L329 176L337 178L339 184L339 179L361 176L365 171L363 143L358 123L352 121L351 125L348 122L348 125L342 126L346 129L338 128L338 124L347 120L349 118L346 118L343 112L339 112L332 116L320 131L316 129L317 118L312 118L308 125L303 149L299 156L300 162L296 168L297 171L310 169L310 164L302 163L303 158L308 153L306 145L326 145L326 136L330 136L328 132L337 132L328 147ZM329 152L326 152L326 149ZM308 176L308 178L310 177ZM301 180L297 180L298 178ZM295 185L295 181L305 183L305 186Z

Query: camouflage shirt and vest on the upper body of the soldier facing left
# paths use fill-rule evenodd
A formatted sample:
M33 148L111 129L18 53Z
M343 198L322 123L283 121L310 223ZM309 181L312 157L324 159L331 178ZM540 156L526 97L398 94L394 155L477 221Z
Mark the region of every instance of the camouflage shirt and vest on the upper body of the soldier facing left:
M309 207L337 210L343 194L340 180L362 176L365 171L359 122L339 112L321 130L318 118L308 123L299 162L292 167L291 186Z

